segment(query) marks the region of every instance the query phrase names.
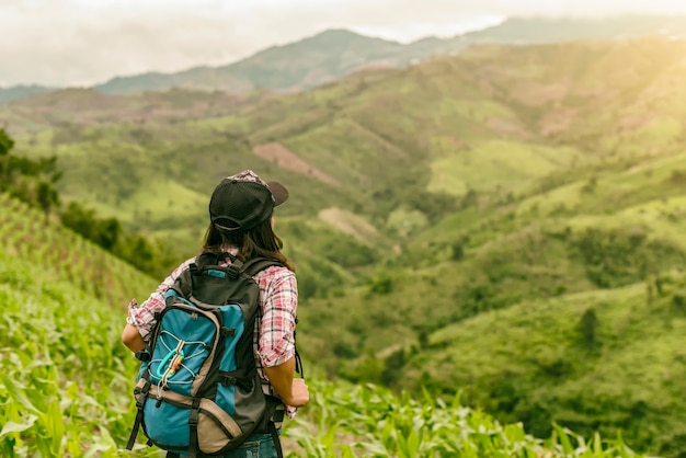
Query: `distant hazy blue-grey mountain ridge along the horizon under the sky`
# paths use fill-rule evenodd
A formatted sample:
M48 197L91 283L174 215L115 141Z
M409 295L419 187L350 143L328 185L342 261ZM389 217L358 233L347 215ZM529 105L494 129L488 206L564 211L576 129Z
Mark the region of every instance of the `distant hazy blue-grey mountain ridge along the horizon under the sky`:
M245 93L262 89L291 92L311 89L365 68L402 68L432 56L449 55L478 43L533 44L574 39L622 39L661 35L686 37L686 16L617 16L605 19L510 19L482 31L451 38L426 37L409 44L330 30L219 67L185 71L117 76L93 88L105 93L165 91L184 88ZM0 102L50 88L0 89Z

